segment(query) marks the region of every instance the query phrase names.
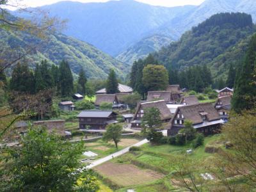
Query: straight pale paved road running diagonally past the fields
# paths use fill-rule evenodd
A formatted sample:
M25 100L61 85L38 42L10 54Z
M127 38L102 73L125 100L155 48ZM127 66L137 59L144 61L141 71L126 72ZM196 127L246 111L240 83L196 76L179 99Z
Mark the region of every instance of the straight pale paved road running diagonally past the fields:
M142 140L142 141L140 141L140 142L138 142L138 143L136 143L136 144L134 144L134 145L131 145L130 147L126 147L126 148L124 148L124 149L122 149L122 150L120 150L120 151L118 151L118 152L115 152L114 154L111 154L111 155L109 155L109 156L106 156L106 157L103 157L103 158L98 159L98 160L96 160L96 161L93 161L93 162L92 162L91 164L89 164L88 166L84 166L84 167L82 168L82 170L84 170L84 169L90 169L90 168L93 168L93 167L95 167L95 166L97 166L97 165L99 165L99 164L105 163L106 161L109 161L109 160L113 159L113 157L115 158L115 157L118 157L118 156L122 156L123 154L129 152L129 148L131 148L131 147L133 147L133 146L140 147L141 145L144 145L145 143L148 143L148 142L149 142L149 141L148 141L147 139Z

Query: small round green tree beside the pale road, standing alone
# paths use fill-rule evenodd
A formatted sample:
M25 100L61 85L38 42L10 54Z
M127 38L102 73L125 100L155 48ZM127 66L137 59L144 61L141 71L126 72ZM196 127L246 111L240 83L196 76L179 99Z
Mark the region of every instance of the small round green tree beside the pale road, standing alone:
M104 141L113 140L115 143L116 149L118 149L117 144L121 140L122 130L123 130L123 127L120 124L108 125L106 128L106 132L104 132L104 134L103 134L102 140L104 140Z

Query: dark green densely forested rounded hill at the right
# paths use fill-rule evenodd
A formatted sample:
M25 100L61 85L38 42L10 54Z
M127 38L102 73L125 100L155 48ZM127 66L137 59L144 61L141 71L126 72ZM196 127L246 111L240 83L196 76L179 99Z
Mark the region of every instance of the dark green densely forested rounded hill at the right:
M255 32L252 17L246 13L212 15L178 42L154 53L154 58L167 67L184 69L193 65L208 65L212 75L226 77L230 64L243 60L250 36Z

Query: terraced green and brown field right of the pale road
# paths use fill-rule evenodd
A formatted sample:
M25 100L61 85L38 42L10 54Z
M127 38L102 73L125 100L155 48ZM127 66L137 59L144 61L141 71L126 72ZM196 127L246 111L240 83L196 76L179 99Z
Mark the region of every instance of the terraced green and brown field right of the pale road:
M220 138L221 135L205 138L204 145L193 150L193 153L190 155L191 159L202 162L202 164L206 161L211 161L211 157L214 156L214 154L206 153L205 146L209 145L209 143L215 143L220 140ZM177 188L173 188L170 178L168 179L164 175L168 175L168 173L173 171L175 164L173 164L171 159L182 153L186 153L186 150L191 148L189 144L184 146L153 146L145 144L141 147L141 151L130 152L117 157L111 160L110 163L98 166L95 168L95 171L103 178L110 180L111 185L114 184L114 186L118 186L118 192L123 192L127 189L135 189L136 192L180 191ZM109 168L111 170L109 170ZM130 172L130 170L132 170L132 172ZM152 172L148 172L148 170L152 170ZM150 173L153 173L153 175L157 174L157 177L150 176Z

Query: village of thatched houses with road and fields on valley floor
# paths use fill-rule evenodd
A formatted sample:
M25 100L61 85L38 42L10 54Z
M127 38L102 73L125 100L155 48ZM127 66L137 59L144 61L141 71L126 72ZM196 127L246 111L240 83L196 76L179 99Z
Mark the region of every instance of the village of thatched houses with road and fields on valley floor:
M76 93L72 100L58 104L60 110L65 114L72 113L74 116L75 112L77 115L73 118L31 123L34 127L46 127L48 132L56 132L66 140L72 142L85 141L84 153L80 158L81 164L86 169L93 169L101 175L100 177L110 177L113 174L110 186L116 189L129 188L129 186L134 185L140 186L148 182L154 183L159 179L163 181L164 174L170 171L170 167L168 167L170 159L168 158L171 158L172 152L169 153L168 150L170 149L168 148L173 148L174 151L180 150L180 152L185 150L185 154L195 155L196 159L198 159L197 151L200 150L200 153L202 153L202 150L204 150L202 147L190 147L189 144L183 144L183 146L182 144L172 145L172 141L163 141L163 138L158 138L157 145L150 145L150 141L141 134L143 116L147 109L159 110L161 126L157 127L157 131L162 132L165 138L175 138L175 136L181 134L180 130L184 129L186 121L191 122L196 132L205 136L204 140L207 143L202 144L203 147L207 145L211 147L205 147L205 152L198 161L205 156L211 157L214 154L212 151L216 150L217 152L220 148L220 144L217 144L216 147L214 143L220 142L218 140L220 139L221 126L228 122L232 89L215 90L216 99L199 100L198 95L191 95L195 92L180 89L179 84L169 85L165 91L148 92L147 100L138 100L133 110L129 104L125 103L124 99L133 94L132 88L124 84L118 84L118 90L119 92L115 94L106 94L106 88L97 91L93 101L95 109L82 111L76 109L76 103L83 102L86 98ZM207 96L205 95L205 97ZM108 109L102 109L101 106L108 106ZM21 135L26 134L29 124L26 121L17 122L15 123L15 131ZM122 126L122 138L118 143L118 148L115 148L113 142L102 141L102 135L106 132L106 127L115 124ZM19 138L17 137L12 138L12 142L8 145L12 147L19 146L18 141ZM171 142L171 145L168 145L169 142ZM135 150L135 154L132 150ZM136 150L140 155L136 154ZM153 155L152 150L159 150L160 153L154 152ZM141 175L136 176L140 179L134 178L129 182L124 182L125 177L128 177L126 175L131 173L126 171L129 166L122 164L123 161L132 162L132 174L133 172L140 172L140 170L137 170L137 166L145 169L143 173L140 173ZM116 164L116 162L119 163ZM148 165L145 166L145 164ZM120 176L120 174L124 175ZM116 177L119 176L124 178L116 180ZM208 176L202 175L202 178L211 180L214 176L209 174L208 178Z

